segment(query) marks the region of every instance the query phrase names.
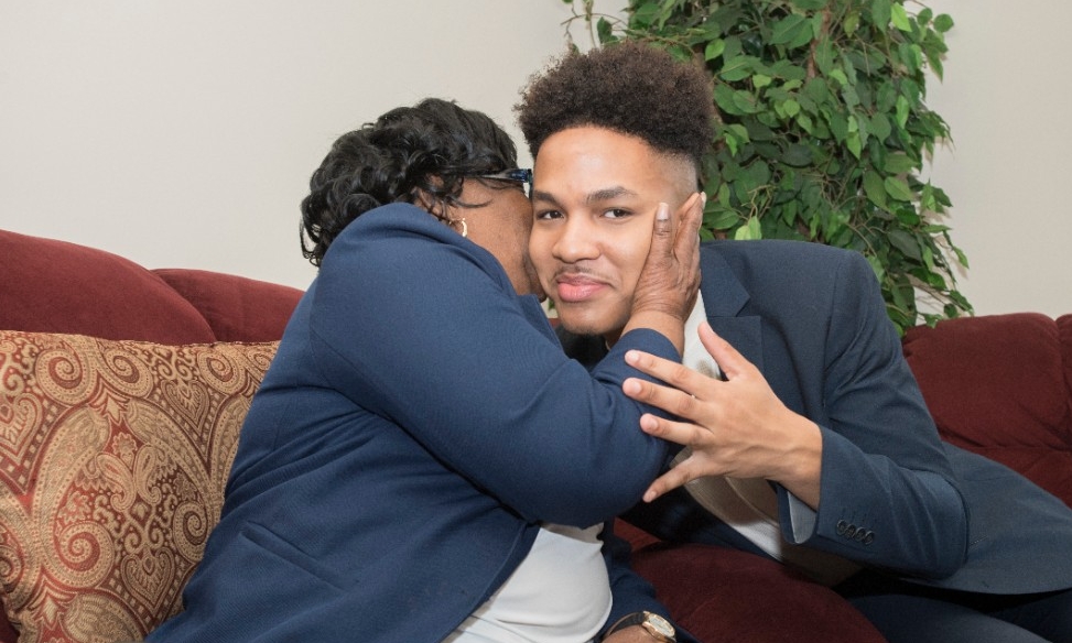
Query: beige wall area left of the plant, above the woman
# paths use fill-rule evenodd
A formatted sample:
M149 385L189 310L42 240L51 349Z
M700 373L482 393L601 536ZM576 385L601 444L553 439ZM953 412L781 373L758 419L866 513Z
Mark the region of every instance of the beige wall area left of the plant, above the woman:
M0 0L0 228L307 285L308 176L424 96L519 139L560 0ZM528 153L523 152L528 160Z

